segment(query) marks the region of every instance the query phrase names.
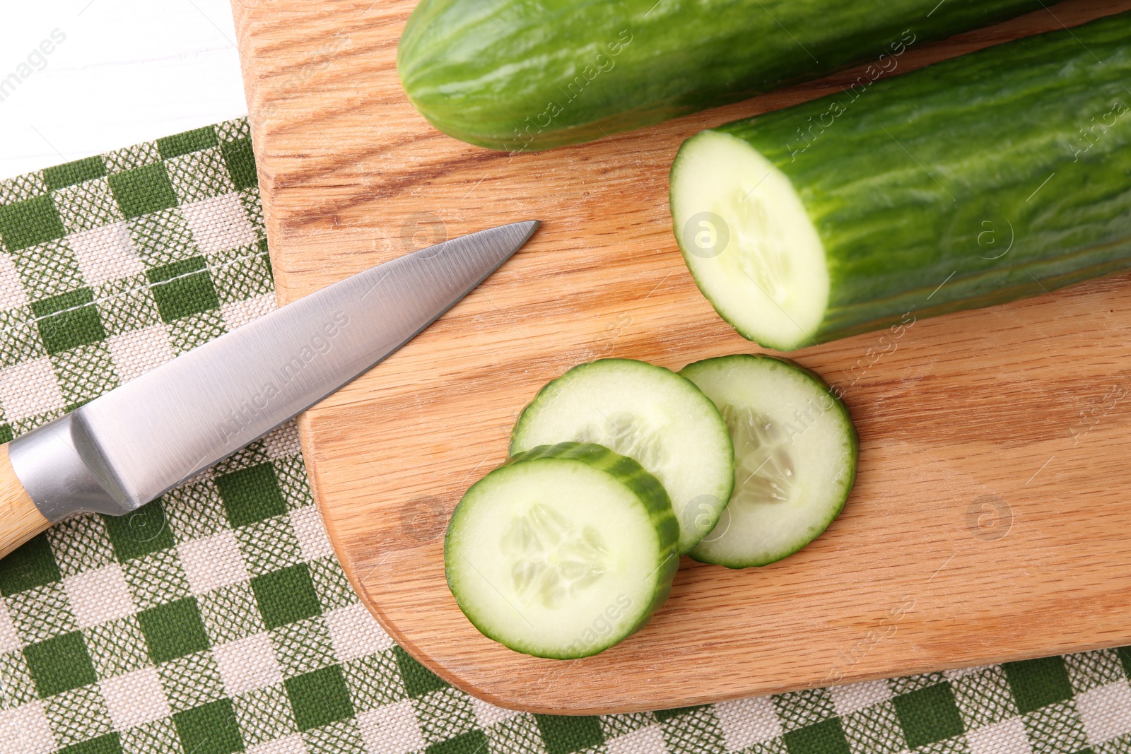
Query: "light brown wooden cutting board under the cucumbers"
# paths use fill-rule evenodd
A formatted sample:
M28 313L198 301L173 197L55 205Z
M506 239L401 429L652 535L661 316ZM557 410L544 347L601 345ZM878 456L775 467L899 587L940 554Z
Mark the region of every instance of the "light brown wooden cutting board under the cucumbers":
M480 635L444 584L443 531L538 388L602 356L680 369L759 350L676 250L680 142L860 71L511 157L407 103L394 61L412 7L234 0L280 303L421 245L544 222L438 323L300 418L335 551L408 652L497 704L595 713L1131 643L1131 277L795 353L845 389L861 435L856 488L822 537L762 569L684 558L651 623L593 658ZM1064 2L912 49L899 70L1128 8Z

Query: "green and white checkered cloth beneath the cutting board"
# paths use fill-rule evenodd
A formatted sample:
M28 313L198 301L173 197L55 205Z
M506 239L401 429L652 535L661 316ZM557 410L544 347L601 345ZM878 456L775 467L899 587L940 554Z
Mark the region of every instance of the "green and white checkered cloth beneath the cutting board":
M0 245L5 441L275 307L242 120L0 182ZM639 714L492 707L357 601L293 424L53 527L0 595L2 753L1131 752L1131 648Z

